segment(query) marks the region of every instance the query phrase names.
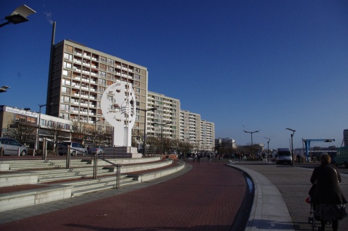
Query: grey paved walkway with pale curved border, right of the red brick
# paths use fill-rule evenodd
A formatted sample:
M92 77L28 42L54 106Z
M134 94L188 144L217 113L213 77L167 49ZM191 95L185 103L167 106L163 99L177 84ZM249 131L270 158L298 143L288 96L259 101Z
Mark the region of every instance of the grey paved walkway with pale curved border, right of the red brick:
M233 162L230 166L244 170L255 183L253 208L246 230L312 230L308 223L310 204L305 200L313 168L298 167L303 166L301 164L295 164L295 167L276 165L267 161ZM341 177L340 187L347 198L348 177L345 174ZM348 218L339 222L339 230L347 230L347 227ZM326 230L332 230L331 226L326 225Z

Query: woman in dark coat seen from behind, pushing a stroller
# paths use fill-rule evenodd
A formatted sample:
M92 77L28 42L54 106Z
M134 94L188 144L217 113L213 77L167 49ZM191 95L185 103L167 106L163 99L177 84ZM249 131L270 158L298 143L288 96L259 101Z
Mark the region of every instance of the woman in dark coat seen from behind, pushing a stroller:
M340 207L347 203L340 189L340 172L335 166L331 166L329 154L320 156L321 165L313 170L310 182L317 184L315 189L314 204L315 212L319 212L322 229L325 230L325 223L331 222L333 230L338 230L338 220L342 219Z

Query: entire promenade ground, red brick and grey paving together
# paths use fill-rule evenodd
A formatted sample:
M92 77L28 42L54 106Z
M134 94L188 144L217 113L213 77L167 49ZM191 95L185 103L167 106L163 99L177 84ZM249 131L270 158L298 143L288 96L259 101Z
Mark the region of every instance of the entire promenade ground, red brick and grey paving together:
M243 216L246 230L312 230L305 199L313 168L299 166L189 161L150 182L1 212L0 230L243 230ZM347 175L340 186L347 197ZM245 211L249 189L255 195ZM340 230L347 227L345 218Z

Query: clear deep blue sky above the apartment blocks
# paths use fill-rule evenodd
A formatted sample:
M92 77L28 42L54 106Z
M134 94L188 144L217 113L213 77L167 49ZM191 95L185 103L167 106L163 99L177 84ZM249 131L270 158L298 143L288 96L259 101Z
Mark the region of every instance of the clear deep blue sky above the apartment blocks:
M46 103L52 22L71 39L143 65L148 90L215 123L216 138L288 148L347 125L348 1L6 1L37 13L0 29L0 104ZM1 21L6 22L6 21ZM243 127L244 126L244 127ZM311 146L328 146L312 143Z

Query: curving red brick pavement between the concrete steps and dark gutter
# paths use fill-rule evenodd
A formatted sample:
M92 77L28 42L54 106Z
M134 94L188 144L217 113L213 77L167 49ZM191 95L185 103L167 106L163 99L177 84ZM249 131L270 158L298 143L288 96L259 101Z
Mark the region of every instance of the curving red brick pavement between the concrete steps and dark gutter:
M172 180L4 223L0 230L230 230L246 193L242 173L221 162L189 164L189 173Z

